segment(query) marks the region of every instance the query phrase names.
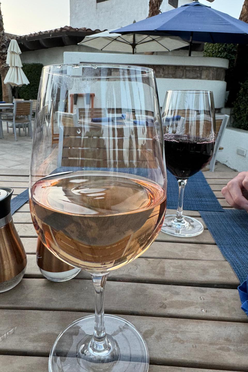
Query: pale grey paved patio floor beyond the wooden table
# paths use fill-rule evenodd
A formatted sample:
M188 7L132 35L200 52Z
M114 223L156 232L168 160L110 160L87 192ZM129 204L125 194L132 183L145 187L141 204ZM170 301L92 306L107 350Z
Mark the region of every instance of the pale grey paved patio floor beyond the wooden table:
M6 122L3 122L4 138L0 139L0 170L25 170L29 171L32 138L21 129L21 135L18 135L17 141L13 134L13 129L9 128L7 133ZM207 169L206 169L207 170ZM229 171L227 166L221 163L216 163L215 171Z

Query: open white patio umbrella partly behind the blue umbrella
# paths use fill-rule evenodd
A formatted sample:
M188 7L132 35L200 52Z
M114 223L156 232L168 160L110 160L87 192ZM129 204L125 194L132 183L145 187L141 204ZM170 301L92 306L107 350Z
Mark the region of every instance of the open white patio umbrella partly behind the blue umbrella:
M86 36L78 45L86 45L91 48L100 49L109 52L169 52L189 45L177 36L150 36L129 34L121 35L120 33L110 33L103 31L94 35Z

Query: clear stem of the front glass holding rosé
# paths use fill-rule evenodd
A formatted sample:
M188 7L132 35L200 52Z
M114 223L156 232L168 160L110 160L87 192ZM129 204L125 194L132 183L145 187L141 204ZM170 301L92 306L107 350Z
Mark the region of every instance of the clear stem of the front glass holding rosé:
M91 349L95 353L106 353L110 350L110 343L106 336L104 325L104 288L108 273L91 274L95 292L95 325L91 340Z

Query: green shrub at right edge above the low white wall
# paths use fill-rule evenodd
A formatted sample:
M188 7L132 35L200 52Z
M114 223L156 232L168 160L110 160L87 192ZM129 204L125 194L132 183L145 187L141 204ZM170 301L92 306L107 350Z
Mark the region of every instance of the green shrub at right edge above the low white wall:
M233 126L248 131L248 80L241 84L238 96L233 104Z

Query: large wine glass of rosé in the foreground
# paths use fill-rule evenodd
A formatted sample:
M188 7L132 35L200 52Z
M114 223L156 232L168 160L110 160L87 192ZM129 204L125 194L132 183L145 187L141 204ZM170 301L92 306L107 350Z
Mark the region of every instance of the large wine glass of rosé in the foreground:
M58 336L49 372L148 371L141 334L120 317L104 317L103 296L108 273L144 253L164 221L164 138L154 71L44 67L29 195L42 243L91 275L96 302L95 315Z

